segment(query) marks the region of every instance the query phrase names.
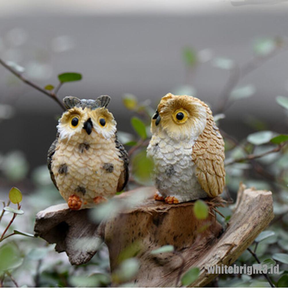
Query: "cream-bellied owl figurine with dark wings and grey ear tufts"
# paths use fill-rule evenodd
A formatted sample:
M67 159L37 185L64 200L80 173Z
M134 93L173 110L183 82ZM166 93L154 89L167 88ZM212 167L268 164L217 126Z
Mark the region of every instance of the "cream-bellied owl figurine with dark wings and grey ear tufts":
M121 191L128 180L128 156L107 110L109 96L68 96L67 111L48 151L51 179L72 210L89 208Z

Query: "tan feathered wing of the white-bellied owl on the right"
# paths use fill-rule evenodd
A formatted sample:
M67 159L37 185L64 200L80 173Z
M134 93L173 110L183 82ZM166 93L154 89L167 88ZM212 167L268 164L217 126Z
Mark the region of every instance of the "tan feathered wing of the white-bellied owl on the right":
M219 133L211 110L207 111L207 124L193 146L192 160L196 165L196 176L209 197L223 192L225 186L224 141Z

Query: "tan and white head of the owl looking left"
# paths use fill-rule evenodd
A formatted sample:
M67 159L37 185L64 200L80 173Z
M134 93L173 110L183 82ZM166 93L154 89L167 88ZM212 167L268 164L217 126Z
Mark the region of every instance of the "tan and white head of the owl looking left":
M173 139L193 139L203 132L209 107L196 97L166 94L152 117L151 132Z

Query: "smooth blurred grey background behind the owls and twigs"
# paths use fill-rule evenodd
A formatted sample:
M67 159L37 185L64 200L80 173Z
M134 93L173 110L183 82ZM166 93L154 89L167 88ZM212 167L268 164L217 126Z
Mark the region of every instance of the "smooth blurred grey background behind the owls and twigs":
M3 60L25 67L24 75L42 87L57 85L59 73L81 73L82 81L63 85L59 97L110 95L118 130L128 132L133 113L122 104L124 94L156 107L167 92L186 92L215 111L230 75L217 67L223 66L219 59L242 65L257 39L288 36L288 2L280 0L1 0L0 7ZM198 53L193 69L183 61L185 47ZM288 51L238 83L247 85L253 95L225 112L223 130L241 139L254 131L249 121L256 119L285 133L275 97L288 94ZM0 87L0 112L10 118L0 120L1 153L20 150L30 168L44 164L61 109L1 66Z

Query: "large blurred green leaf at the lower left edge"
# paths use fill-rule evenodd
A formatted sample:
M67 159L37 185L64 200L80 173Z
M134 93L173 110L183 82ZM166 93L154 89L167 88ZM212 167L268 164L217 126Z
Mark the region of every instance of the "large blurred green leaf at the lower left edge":
M13 270L23 263L18 247L8 243L0 247L0 274L3 271Z

